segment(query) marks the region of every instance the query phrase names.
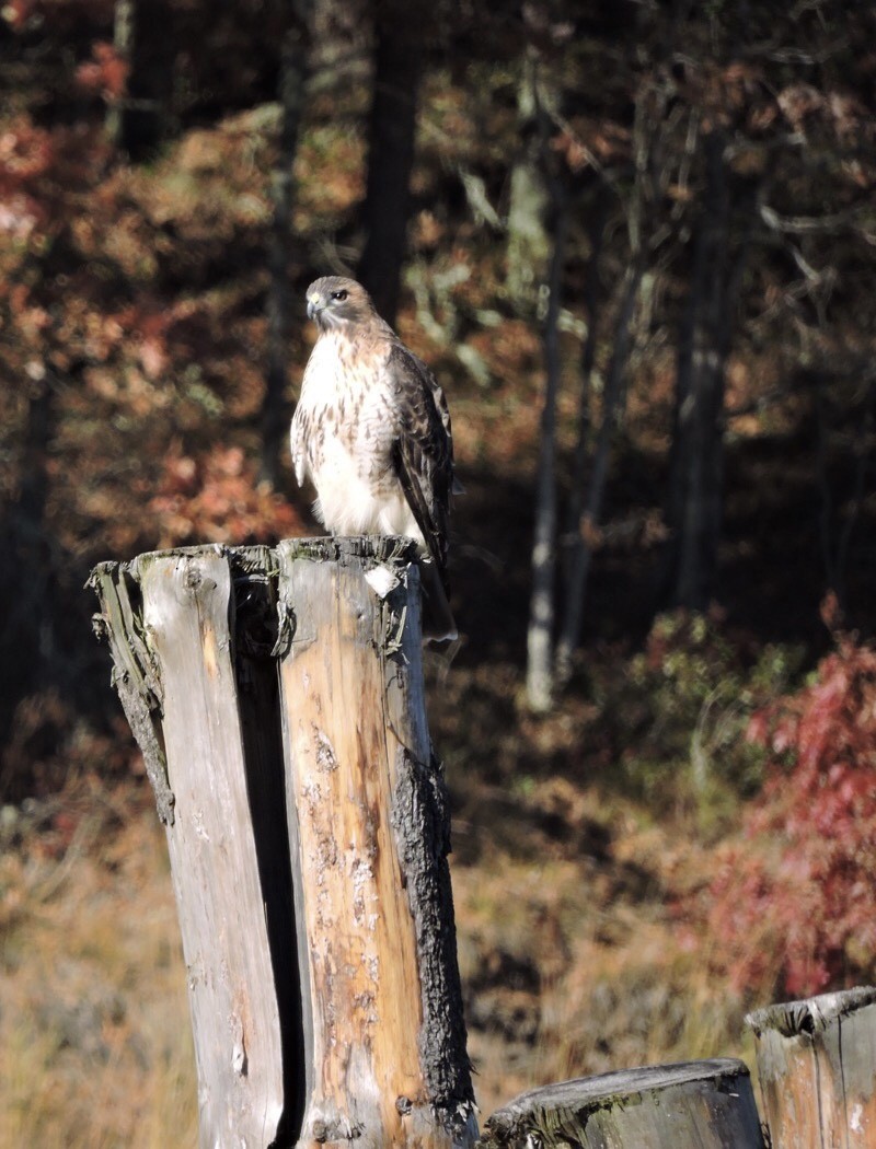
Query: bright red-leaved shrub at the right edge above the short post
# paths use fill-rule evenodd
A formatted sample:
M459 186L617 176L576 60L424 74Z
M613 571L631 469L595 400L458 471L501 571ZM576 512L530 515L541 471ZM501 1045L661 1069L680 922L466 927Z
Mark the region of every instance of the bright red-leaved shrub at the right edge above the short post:
M876 650L847 634L815 681L754 715L768 781L710 887L710 934L736 988L807 995L873 973Z

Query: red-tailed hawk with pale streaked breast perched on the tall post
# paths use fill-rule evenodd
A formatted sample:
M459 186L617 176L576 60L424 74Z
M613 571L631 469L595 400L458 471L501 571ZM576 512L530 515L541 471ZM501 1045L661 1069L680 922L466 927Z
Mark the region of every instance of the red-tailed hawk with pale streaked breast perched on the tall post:
M332 534L404 534L420 543L423 634L456 638L447 602L453 440L435 376L354 279L307 288L318 338L292 419L292 461L313 480Z

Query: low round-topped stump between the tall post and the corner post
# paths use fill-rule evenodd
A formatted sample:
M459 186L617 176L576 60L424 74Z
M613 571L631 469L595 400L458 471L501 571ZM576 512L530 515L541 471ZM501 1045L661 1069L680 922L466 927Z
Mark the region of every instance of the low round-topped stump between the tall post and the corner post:
M483 1149L763 1149L744 1062L621 1070L521 1094L485 1124Z

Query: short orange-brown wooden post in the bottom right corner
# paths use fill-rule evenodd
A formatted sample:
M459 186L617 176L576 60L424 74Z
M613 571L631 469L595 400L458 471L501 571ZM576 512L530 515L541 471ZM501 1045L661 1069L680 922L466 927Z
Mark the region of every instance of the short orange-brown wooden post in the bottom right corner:
M876 988L750 1013L773 1149L876 1146Z

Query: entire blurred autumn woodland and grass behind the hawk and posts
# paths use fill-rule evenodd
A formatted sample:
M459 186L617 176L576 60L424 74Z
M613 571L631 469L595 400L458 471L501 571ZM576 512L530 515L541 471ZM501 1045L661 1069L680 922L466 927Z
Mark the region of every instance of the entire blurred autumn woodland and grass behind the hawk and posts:
M876 964L876 9L9 0L0 1147L193 1144L105 558L316 530L303 291L432 364L484 1113Z

